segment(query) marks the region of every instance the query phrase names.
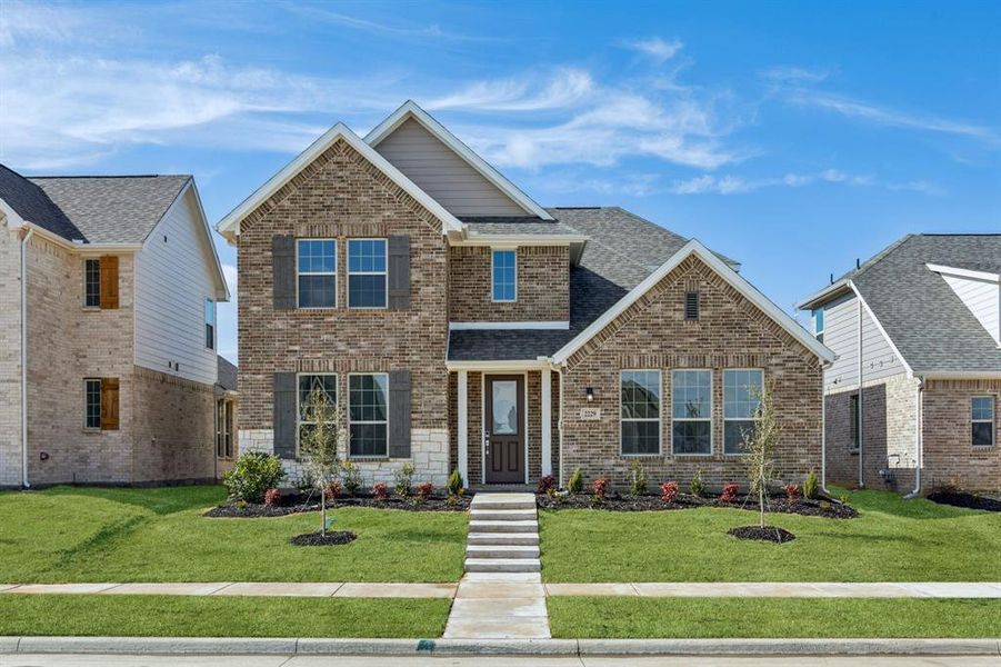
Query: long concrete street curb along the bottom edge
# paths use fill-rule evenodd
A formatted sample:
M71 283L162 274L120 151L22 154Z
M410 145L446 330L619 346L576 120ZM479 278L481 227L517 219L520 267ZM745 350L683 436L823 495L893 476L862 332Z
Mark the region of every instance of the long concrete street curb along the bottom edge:
M278 639L0 637L4 654L311 656L1001 656L1001 639Z

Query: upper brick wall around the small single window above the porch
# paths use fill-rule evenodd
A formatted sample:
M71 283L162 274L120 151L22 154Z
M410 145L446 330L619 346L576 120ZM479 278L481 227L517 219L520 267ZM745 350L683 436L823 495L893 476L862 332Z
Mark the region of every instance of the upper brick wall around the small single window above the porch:
M453 322L567 321L570 319L569 246L518 248L518 299L492 300L491 249L449 249L449 319Z

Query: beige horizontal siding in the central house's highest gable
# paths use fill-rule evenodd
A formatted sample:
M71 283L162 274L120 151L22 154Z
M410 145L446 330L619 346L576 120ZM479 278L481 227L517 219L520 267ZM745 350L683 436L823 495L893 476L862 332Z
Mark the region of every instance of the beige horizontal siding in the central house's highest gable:
M454 216L531 215L413 118L376 150Z

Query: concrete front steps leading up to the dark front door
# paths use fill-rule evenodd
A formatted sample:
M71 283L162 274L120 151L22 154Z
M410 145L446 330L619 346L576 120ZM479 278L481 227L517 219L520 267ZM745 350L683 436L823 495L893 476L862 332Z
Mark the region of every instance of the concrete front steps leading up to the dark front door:
M466 571L541 571L534 495L477 494L469 511Z

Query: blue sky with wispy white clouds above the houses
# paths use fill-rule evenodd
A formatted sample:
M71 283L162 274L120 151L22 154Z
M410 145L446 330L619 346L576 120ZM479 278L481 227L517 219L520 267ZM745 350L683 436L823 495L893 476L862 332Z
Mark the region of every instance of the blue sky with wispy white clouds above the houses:
M697 237L791 310L905 232L1001 230L999 44L999 2L2 0L0 160L193 173L214 225L413 98L539 202Z

